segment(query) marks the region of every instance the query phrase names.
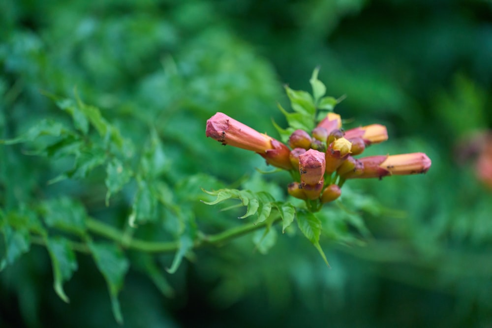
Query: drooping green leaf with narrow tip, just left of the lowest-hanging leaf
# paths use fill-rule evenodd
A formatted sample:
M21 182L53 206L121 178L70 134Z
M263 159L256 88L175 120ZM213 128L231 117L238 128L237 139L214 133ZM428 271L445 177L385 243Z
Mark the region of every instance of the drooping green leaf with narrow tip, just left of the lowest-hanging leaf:
M70 280L73 272L77 270L75 253L70 248L68 240L64 238L47 238L45 240L53 267L53 287L58 296L68 303L69 299L63 291L63 282Z

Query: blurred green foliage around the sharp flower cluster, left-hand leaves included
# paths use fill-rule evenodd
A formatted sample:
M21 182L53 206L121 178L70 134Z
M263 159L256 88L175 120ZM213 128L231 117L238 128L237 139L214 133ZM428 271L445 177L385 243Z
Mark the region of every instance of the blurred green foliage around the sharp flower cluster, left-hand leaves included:
M492 325L491 190L457 153L492 125L490 1L5 0L0 22L1 327ZM276 136L317 65L344 125L388 127L368 154L429 173L344 186L331 269L293 228L189 252L254 220L200 188L290 182L206 119Z

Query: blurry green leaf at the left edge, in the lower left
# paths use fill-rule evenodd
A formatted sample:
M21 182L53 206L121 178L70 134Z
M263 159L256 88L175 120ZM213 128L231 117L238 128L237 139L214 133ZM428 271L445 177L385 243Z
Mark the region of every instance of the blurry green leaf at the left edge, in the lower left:
M5 254L0 261L0 271L13 264L22 254L29 251L31 240L27 229L12 229L2 224L1 232L5 240Z

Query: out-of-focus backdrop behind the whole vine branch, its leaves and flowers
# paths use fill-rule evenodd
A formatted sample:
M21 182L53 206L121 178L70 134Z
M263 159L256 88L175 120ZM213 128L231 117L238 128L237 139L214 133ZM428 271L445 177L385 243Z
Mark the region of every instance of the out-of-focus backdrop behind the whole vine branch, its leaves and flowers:
M387 126L370 154L432 159L423 176L347 183L349 197L374 199L370 234L362 246L322 238L331 269L299 235L278 236L266 255L251 236L199 250L167 275L173 297L130 269L125 327L492 327L491 1L3 0L0 22L2 138L62 115L40 90L77 88L136 144L156 127L166 179L201 173L254 188L262 159L205 138L206 119L220 111L276 136L282 85L309 90L319 66L328 94L346 95L336 112L347 126ZM131 206L123 196L105 209L93 180L33 196L57 165L2 148L2 207L60 193L96 217L124 219ZM287 175L265 179L285 194ZM187 206L205 230L237 223L198 199ZM0 273L0 326L118 327L102 276L77 260L66 304L46 250L31 246Z

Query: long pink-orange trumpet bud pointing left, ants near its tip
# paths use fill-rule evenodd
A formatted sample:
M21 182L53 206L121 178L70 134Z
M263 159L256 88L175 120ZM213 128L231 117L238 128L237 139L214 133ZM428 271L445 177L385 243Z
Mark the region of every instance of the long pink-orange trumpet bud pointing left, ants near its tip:
M205 134L222 145L255 151L265 158L267 163L292 170L289 160L290 150L287 146L223 113L216 113L207 120Z

